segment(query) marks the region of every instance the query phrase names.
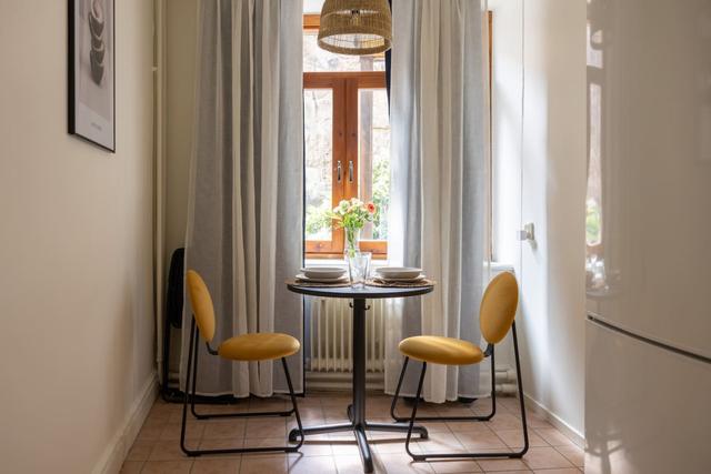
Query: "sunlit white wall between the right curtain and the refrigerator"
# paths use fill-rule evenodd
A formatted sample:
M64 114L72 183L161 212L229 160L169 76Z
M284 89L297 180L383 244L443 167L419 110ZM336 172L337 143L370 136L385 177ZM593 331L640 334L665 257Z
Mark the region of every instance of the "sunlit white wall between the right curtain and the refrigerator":
M557 421L582 434L585 2L524 3L490 1L494 12L494 161L499 163L494 170L500 215L497 256L513 260L521 284L525 392ZM535 224L534 244L524 243L521 249L515 241L515 218L518 225Z

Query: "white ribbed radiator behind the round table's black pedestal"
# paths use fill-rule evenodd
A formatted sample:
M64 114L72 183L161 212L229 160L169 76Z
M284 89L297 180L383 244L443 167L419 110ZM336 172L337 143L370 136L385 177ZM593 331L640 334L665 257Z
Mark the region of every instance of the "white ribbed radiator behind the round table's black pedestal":
M353 314L346 299L314 299L311 302L311 372L351 372L353 361ZM382 373L385 360L385 300L368 301L365 312L365 367Z

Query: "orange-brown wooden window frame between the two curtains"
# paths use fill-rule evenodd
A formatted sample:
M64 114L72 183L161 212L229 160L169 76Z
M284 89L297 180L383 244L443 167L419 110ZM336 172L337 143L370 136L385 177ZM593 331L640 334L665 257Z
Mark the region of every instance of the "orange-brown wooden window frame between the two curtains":
M304 31L319 28L318 14L303 16ZM343 199L359 198L359 91L385 89L384 71L304 72L303 90L330 89L333 97L332 154L331 154L331 205ZM338 163L341 163L341 180L338 180ZM349 169L352 165L352 174ZM331 240L307 240L307 259L342 259L344 245L342 229L331 228ZM388 242L361 240L360 249L372 252L373 259L387 259Z

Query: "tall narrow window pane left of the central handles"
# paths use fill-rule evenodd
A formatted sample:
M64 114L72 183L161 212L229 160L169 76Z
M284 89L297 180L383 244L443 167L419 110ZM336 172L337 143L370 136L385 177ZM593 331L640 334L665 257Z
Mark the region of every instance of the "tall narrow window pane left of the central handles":
M303 91L306 160L306 238L331 240L331 157L333 153L333 91Z

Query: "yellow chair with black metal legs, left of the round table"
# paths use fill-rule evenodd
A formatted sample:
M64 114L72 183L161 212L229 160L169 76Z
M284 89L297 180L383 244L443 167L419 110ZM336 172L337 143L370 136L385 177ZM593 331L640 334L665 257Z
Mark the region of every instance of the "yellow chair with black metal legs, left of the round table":
M212 349L210 343L214 339L214 307L210 291L204 281L194 270L188 270L188 294L192 304L193 319L190 329L190 349L188 351L188 373L186 375L186 396L182 406L182 427L180 431L180 447L189 456L199 456L201 454L227 454L227 453L263 453L263 452L297 452L303 444L303 426L299 416L297 399L287 366L287 359L296 354L301 349L299 341L288 334L280 333L253 333L242 334L230 337L222 342L217 351ZM196 327L197 325L197 327ZM198 379L198 344L202 337L208 347L208 352L230 361L270 361L281 359L281 365L287 376L287 385L289 386L289 395L291 396L292 409L281 412L258 412L258 413L219 413L219 414L200 414L196 411L196 381ZM190 386L191 391L188 392ZM244 417L244 416L291 416L297 418L299 426L299 443L292 446L267 446L267 447L234 447L220 450L189 450L186 446L186 422L188 418L188 399L190 399L190 410L198 420L223 418L223 417Z

